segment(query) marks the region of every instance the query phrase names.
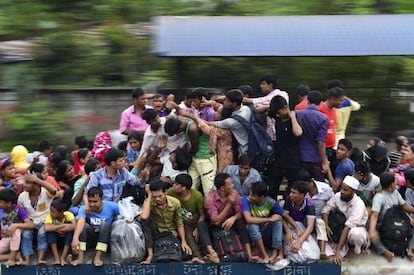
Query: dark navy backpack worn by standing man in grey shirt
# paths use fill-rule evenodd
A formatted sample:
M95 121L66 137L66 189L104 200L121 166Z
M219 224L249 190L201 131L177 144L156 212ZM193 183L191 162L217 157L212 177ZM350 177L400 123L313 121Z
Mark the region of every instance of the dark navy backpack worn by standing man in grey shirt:
M232 116L249 132L249 148L247 154L252 158L251 166L263 175L268 175L274 161L273 141L266 130L250 116L250 122L239 115Z

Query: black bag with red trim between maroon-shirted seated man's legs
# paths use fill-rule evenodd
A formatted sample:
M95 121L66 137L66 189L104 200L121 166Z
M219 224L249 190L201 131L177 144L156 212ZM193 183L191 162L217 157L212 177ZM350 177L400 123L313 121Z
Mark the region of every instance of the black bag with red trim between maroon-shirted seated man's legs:
M247 262L247 252L233 229L213 230L214 249L220 262Z

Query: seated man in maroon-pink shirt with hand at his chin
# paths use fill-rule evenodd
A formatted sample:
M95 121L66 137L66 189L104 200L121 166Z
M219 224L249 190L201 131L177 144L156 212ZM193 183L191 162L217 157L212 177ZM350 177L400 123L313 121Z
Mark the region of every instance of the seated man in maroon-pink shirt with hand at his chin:
M246 248L249 262L257 261L252 256L249 235L243 222L240 195L233 189L229 174L219 173L214 179L216 190L208 194L204 201L210 223L214 229L236 231L240 242Z

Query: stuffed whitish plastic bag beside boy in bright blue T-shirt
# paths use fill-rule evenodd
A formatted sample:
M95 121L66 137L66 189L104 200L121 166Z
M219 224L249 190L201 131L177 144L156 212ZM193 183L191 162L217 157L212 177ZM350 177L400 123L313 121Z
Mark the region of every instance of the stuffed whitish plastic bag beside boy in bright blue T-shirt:
M118 202L121 216L112 223L111 261L117 264L137 263L146 256L145 237L141 226L131 222L142 209L127 197Z

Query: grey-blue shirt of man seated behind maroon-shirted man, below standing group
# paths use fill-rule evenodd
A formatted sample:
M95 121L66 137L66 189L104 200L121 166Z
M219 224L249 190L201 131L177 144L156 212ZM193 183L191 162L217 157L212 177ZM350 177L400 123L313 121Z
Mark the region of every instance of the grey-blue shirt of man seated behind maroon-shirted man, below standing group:
M230 175L233 181L234 190L236 190L237 193L239 193L242 197L249 195L250 186L253 183L262 181L260 173L254 168L250 168L249 174L247 175L243 184L240 182L240 169L238 165L227 166L226 168L224 168L223 173L227 173Z

